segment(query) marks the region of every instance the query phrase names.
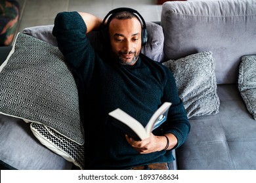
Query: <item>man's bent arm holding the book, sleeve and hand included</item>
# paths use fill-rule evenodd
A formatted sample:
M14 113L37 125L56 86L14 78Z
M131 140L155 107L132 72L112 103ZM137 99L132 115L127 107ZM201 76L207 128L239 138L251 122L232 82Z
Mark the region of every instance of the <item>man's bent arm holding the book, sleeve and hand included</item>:
M186 110L184 109L183 103L177 92L175 78L169 70L167 70L167 80L162 101L169 101L172 103L167 116L167 121L161 125L163 134L166 135L169 140L169 146L166 150L171 150L181 146L186 140L188 132L190 131L190 124L188 122ZM166 137L155 136L151 133L150 137L143 141L135 141L128 136L126 139L138 152L146 154L165 149L165 146L167 145Z

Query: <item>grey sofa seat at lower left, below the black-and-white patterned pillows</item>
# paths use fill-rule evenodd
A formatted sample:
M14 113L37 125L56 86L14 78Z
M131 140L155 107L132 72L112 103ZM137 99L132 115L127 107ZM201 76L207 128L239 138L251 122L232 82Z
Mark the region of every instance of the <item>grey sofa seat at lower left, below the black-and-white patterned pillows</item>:
M72 169L73 163L43 146L18 118L0 114L0 139L0 159L15 169Z

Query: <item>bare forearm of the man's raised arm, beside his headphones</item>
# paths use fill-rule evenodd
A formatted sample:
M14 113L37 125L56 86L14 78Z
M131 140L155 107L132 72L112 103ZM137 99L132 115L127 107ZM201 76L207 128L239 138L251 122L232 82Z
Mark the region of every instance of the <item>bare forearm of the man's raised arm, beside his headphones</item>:
M85 22L87 26L87 32L95 31L100 28L100 25L102 23L102 19L98 18L97 16L94 16L93 14L89 14L87 12L78 12L80 16L83 18L83 21Z

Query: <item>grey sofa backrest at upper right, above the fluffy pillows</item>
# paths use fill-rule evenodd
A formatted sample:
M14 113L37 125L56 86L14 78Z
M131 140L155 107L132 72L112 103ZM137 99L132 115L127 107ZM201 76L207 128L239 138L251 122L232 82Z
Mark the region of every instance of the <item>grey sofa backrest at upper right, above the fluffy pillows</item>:
M217 84L238 82L240 58L256 54L256 1L170 1L161 26L167 61L211 51Z

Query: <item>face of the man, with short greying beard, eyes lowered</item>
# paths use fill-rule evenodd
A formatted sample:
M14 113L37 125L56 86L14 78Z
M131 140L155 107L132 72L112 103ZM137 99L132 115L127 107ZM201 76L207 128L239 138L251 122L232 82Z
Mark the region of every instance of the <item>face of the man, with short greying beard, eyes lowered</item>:
M137 18L113 19L109 25L110 46L123 65L134 65L141 49L141 25Z

